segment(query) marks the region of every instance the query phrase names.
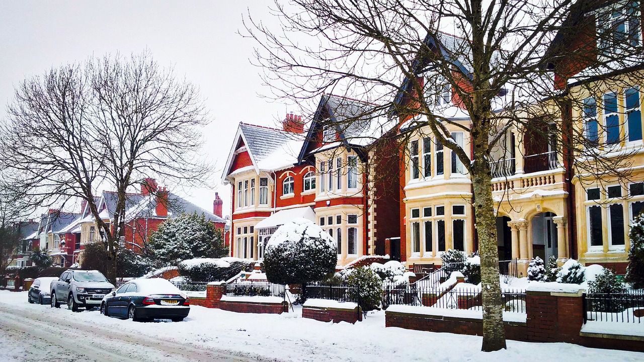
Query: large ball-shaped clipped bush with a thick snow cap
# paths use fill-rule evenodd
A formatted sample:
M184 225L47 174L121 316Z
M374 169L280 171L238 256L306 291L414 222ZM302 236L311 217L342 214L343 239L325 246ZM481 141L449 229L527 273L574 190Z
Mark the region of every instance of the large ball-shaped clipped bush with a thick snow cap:
M297 218L281 225L264 253L266 278L278 284L325 280L336 269L336 242L321 227Z

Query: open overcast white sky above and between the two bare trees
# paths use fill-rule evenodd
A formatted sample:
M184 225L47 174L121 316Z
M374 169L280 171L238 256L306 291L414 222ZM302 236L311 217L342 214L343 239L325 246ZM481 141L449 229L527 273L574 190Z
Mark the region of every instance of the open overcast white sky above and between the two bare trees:
M24 77L91 55L149 50L174 64L202 91L212 122L204 130L206 157L216 164L212 187L179 191L212 210L215 191L229 214L221 169L240 121L275 126L287 108L258 97L265 91L252 66L253 43L236 32L247 9L273 23L269 2L234 1L0 1L0 117ZM289 111L294 111L290 110ZM187 194L187 195L186 195Z

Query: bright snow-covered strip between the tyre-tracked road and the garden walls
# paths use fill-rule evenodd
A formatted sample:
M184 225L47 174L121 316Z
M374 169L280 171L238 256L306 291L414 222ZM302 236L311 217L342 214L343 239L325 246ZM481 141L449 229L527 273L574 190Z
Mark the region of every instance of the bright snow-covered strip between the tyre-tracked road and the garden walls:
M68 318L97 329L120 330L179 342L191 347L259 354L279 361L515 361L558 360L574 356L585 362L641 361L644 354L601 350L567 343L507 341L507 350L480 352L481 338L384 327L384 312L370 312L355 325L301 318L301 309L285 314L244 314L191 307L180 323L135 323L107 318L98 311L72 313L27 303L25 292L0 291L0 309ZM25 321L28 323L28 321ZM2 356L0 352L0 356Z

